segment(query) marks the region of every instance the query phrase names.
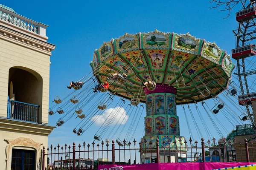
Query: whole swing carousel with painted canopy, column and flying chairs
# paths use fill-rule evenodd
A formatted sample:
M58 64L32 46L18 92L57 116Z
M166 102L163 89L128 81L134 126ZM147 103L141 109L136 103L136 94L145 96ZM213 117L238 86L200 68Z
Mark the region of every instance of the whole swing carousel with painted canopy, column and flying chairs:
M244 112L244 108L236 105L237 84L230 81L235 66L230 55L215 43L192 37L189 33L178 35L155 30L125 34L96 49L90 66L93 71L78 81L84 82L83 87L67 89L62 96L56 96L55 105L49 109L50 115L63 115L57 126L74 116L80 118L73 129L78 136L88 130L112 102L116 104L115 109L102 122L94 139L110 142L115 138L120 146L126 144L125 140L133 140L145 111L143 148L149 148L149 144L154 148L157 139L160 144L165 143L165 147L185 147L176 105L183 108L191 136L189 122L194 122L198 136L203 136L193 115L196 113L209 139L213 136L205 122L206 115L220 137L224 136L220 128L225 127L217 125L220 123L216 116L218 112L223 113L233 127L235 123L241 125L237 119L239 115L229 106L233 104L238 111ZM104 86L106 82L107 88ZM95 85L99 87L93 93ZM220 99L219 94L225 99ZM97 102L93 103L95 99ZM207 99L213 100L214 105L210 106ZM226 104L227 101L231 104ZM198 102L202 104L204 114L196 105ZM192 121L188 120L187 111ZM114 122L118 114L125 116ZM125 131L125 140L121 141L119 138Z

